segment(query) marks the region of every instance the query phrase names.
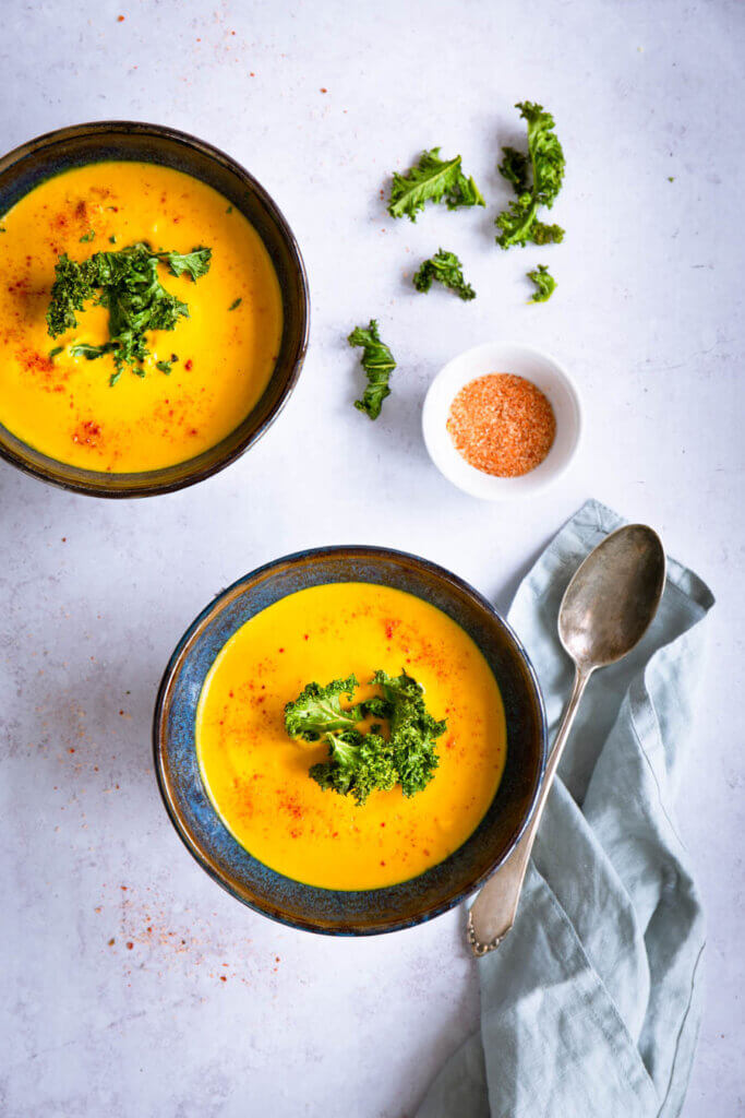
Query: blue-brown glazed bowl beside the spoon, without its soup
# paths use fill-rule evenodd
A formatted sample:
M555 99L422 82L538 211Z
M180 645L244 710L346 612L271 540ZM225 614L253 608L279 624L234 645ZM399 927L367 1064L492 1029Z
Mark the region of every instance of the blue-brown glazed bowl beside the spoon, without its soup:
M385 889L318 889L270 870L230 834L207 795L194 724L204 679L225 643L280 598L326 582L379 582L417 595L453 618L486 656L507 718L507 761L488 812L470 839L426 873ZM165 808L200 865L223 889L281 923L326 935L395 931L447 911L507 858L531 817L546 761L543 700L509 626L467 582L433 563L383 548L321 548L260 567L200 614L165 670L153 724L155 771Z

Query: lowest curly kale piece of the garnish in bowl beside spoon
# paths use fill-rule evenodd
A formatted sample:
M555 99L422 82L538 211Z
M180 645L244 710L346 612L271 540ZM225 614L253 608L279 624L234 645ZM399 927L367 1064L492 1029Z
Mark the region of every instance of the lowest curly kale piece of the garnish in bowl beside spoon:
M380 733L346 730L327 733L326 741L328 760L309 769L309 775L324 790L354 796L362 805L371 792L390 792L398 781L393 750Z

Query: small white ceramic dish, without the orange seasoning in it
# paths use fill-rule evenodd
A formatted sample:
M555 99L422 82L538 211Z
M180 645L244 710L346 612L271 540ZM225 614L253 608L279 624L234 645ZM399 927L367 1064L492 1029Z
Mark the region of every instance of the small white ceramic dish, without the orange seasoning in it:
M447 428L455 396L489 372L513 372L532 380L554 409L553 446L541 465L522 477L494 477L476 470L458 453ZM536 493L566 470L580 445L582 408L571 377L548 353L518 342L486 342L455 357L437 375L424 399L422 429L429 456L448 481L471 496L503 501Z

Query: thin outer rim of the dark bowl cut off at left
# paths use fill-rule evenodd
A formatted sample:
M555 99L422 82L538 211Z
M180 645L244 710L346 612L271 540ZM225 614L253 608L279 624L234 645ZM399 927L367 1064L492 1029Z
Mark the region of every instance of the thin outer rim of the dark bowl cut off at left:
M102 121L87 121L82 124L70 124L61 129L54 129L50 132L44 132L32 140L27 140L25 143L19 144L11 151L0 157L0 179L2 174L11 167L16 165L20 161L34 157L38 153L42 153L45 149L51 148L59 141L73 139L76 136L96 136L102 138L112 134L140 134L140 135L154 135L160 139L172 141L180 144L183 148L198 151L208 159L214 162L221 163L225 168L232 171L238 179L242 180L245 186L251 190L258 198L267 214L269 215L271 221L277 227L281 239L285 241L289 256L293 260L293 266L297 272L298 288L300 293L300 332L299 332L299 343L296 347L295 352L292 354L292 369L281 392L275 400L270 410L264 417L261 423L247 433L240 442L233 446L227 453L220 455L214 462L203 465L193 471L189 471L182 477L173 481L163 482L152 482L139 485L122 485L116 490L107 489L104 484L95 483L93 481L86 481L84 479L74 479L60 476L58 471L60 468L67 468L66 463L59 462L57 458L52 458L48 455L44 455L46 462L49 466L37 465L27 462L20 455L18 455L12 447L4 445L0 440L0 458L8 462L11 466L17 470L22 471L22 473L36 477L39 481L47 482L50 485L56 485L58 489L64 489L67 492L82 493L85 496L96 496L104 498L108 500L117 499L132 499L132 498L145 498L145 496L160 496L164 493L174 493L178 490L188 489L191 485L197 485L199 482L206 481L213 474L220 473L220 471L226 470L229 465L232 465L238 458L241 457L255 443L261 438L264 434L274 424L275 419L279 416L280 411L287 404L289 396L295 388L300 371L303 369L303 363L308 349L308 340L311 334L311 292L308 285L308 276L305 268L305 263L300 254L299 246L295 238L289 224L279 209L275 200L271 198L269 192L261 186L261 183L254 178L254 176L248 171L238 160L233 159L227 152L222 151L220 148L214 146L214 144L209 143L206 140L200 140L198 136L192 135L189 132L183 132L180 129L171 127L168 124L152 124L145 121L125 121L125 120L102 120ZM95 160L92 160L95 162ZM144 162L147 162L144 160ZM185 172L189 173L189 172ZM276 368L276 366L275 366ZM249 413L250 415L250 413ZM248 417L246 417L248 418ZM11 432L12 434L12 432ZM19 439L19 442L23 442ZM189 459L185 459L187 462ZM194 459L197 461L197 459ZM176 463L179 465L179 463ZM74 467L69 467L74 468ZM169 467L170 468L170 467ZM103 471L84 471L90 475L101 475L102 479L108 476ZM131 476L146 476L147 474L157 474L162 471L160 470L147 470L141 471L132 474ZM126 476L126 475L121 475Z

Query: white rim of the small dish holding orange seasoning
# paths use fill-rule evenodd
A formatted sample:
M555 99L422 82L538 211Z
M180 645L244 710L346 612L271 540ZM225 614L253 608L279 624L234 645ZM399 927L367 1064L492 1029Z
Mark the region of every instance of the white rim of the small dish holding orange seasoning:
M569 397L572 400L573 411L574 411L574 433L573 433L573 444L567 453L564 461L554 466L551 472L544 474L542 477L536 477L535 472L531 471L527 474L523 474L519 477L490 477L488 474L483 474L480 471L476 470L475 466L470 466L469 463L465 463L469 471L472 471L474 475L484 482L484 480L490 480L494 483L494 492L476 492L468 482L461 483L456 480L450 472L446 472L446 467L442 463L442 455L438 449L436 442L436 436L433 434L433 426L437 420L437 411L432 400L434 398L436 386L440 385L442 380L447 379L448 376L453 375L453 369L457 368L464 360L475 359L483 352L494 351L494 350L515 350L526 359L534 359L544 363L551 370L551 377L555 379L556 382L563 385L566 389ZM494 370L493 370L494 371ZM508 371L508 370L505 370ZM484 376L484 373L474 373L475 377ZM525 376L526 380L531 380L529 375L519 373L518 376ZM468 381L467 381L468 382ZM451 397L455 398L455 395ZM557 358L550 353L547 350L541 349L537 345L531 345L526 342L514 341L509 338L498 339L494 341L479 342L477 345L470 345L466 350L461 350L459 353L455 353L436 373L434 378L430 382L427 394L424 396L424 401L422 404L422 436L424 439L424 446L427 447L427 453L432 462L432 465L438 470L442 477L448 481L456 489L460 490L461 493L466 493L468 496L472 496L478 501L516 501L516 500L528 500L535 496L537 493L545 492L550 485L553 485L563 474L566 473L571 464L574 462L577 452L580 449L580 444L582 442L582 436L584 432L584 409L582 405L582 397L580 390L576 386L576 381L571 376L566 366L560 361ZM527 481L529 479L529 482ZM523 484L510 485L510 482L517 482ZM527 482L527 483L526 483Z

